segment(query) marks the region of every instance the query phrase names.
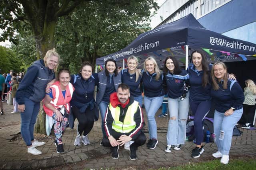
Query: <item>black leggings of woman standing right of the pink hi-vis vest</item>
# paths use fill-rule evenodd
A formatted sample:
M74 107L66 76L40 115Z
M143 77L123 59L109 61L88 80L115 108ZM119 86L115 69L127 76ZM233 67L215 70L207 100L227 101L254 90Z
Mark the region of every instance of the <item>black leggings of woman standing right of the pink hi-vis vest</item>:
M86 136L94 125L94 110L87 108L84 113L81 113L78 108L72 107L72 113L78 120L78 127L76 129L78 137L82 135L83 131L84 136Z

